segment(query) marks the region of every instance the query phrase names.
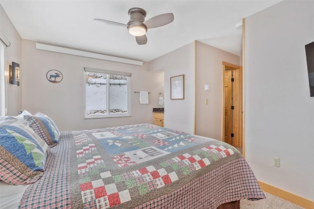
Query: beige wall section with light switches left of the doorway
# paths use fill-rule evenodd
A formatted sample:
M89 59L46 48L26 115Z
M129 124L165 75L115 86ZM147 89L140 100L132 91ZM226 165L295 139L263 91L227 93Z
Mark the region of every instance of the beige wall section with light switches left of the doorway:
M239 56L196 42L195 133L219 140L222 140L223 61L240 65ZM205 84L209 84L209 91L205 91Z

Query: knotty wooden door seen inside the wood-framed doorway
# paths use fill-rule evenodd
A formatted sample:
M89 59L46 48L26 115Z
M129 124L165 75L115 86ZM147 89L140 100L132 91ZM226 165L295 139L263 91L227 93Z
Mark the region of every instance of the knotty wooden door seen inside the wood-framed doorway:
M232 144L232 70L224 72L224 95L225 95L225 142Z

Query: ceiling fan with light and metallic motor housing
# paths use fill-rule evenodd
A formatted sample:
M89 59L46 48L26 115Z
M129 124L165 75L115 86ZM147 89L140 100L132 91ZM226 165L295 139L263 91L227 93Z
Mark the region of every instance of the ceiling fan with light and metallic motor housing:
M114 26L126 27L129 30L129 33L135 36L136 43L138 45L144 45L147 43L147 37L145 34L149 28L160 27L169 24L174 20L173 13L165 13L145 21L146 11L137 7L129 9L128 13L130 16L130 21L127 24L103 19L94 19L94 21L99 21Z

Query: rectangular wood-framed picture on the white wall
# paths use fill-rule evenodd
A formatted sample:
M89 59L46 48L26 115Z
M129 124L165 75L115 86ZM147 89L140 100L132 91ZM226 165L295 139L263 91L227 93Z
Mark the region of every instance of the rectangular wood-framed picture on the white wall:
M184 75L170 77L171 99L184 99Z

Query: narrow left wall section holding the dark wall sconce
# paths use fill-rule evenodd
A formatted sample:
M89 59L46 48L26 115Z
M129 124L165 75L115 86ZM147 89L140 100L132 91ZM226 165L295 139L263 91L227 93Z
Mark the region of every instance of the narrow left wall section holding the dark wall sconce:
M12 62L20 64L21 77L23 77L24 69L22 63L22 39L19 33L16 31L14 25L6 15L2 6L0 5L0 31L8 38L11 46L5 49L6 52L6 71L9 74L9 65ZM7 76L7 104L8 115L16 116L22 109L22 89L23 80L20 82L20 86L9 84L9 77Z

